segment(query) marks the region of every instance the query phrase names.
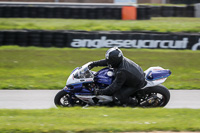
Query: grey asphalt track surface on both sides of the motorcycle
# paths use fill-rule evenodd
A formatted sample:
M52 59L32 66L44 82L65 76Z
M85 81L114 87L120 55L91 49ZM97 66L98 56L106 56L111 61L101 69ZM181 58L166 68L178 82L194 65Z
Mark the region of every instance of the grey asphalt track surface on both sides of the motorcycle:
M55 108L54 96L59 90L0 90L0 109ZM165 108L200 109L200 90L170 90Z

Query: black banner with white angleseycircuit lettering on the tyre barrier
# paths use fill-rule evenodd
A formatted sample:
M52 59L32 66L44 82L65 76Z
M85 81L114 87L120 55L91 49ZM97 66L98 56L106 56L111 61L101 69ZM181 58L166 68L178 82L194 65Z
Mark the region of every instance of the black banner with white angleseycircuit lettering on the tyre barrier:
M70 39L71 38L71 39ZM186 34L80 34L69 37L70 47L79 48L146 48L146 49L200 49L199 35Z

